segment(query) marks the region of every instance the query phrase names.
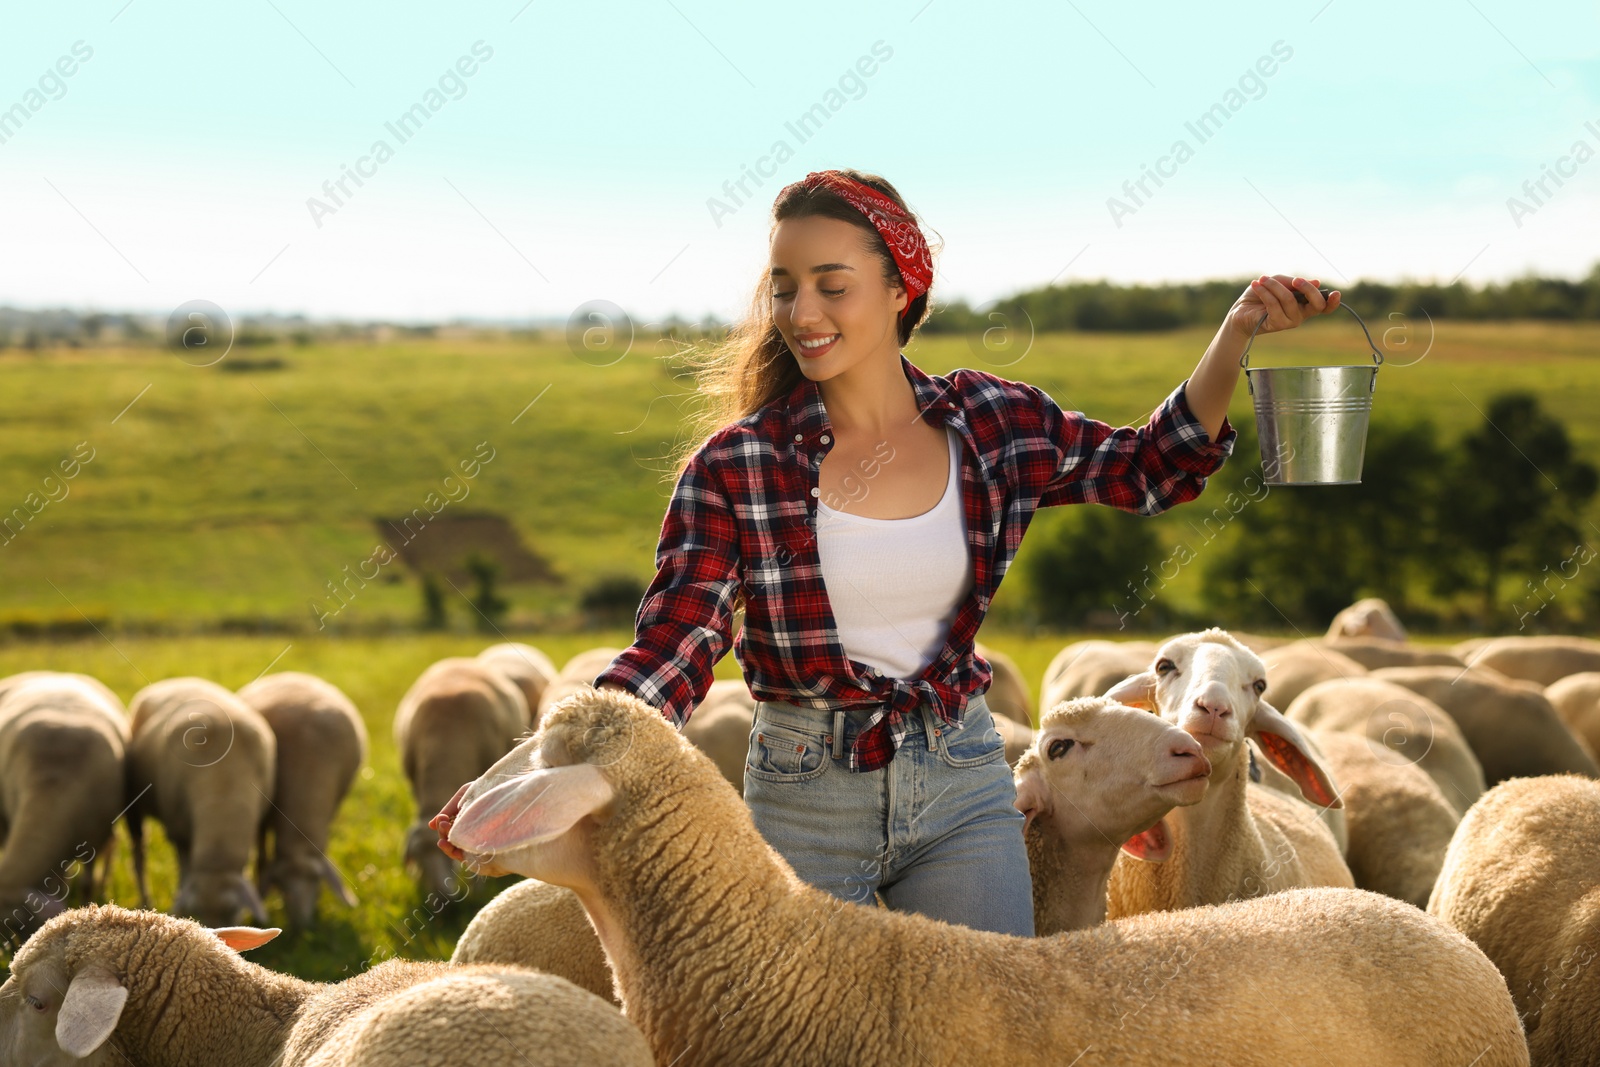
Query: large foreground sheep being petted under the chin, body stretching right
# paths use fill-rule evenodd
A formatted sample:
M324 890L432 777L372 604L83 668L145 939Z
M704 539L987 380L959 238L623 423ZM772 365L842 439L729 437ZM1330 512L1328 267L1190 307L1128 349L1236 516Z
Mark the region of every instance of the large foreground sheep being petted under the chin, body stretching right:
M658 1064L1526 1064L1470 941L1315 888L1050 937L806 885L661 709L579 691L434 825L578 894ZM1248 993L1246 993L1248 985Z

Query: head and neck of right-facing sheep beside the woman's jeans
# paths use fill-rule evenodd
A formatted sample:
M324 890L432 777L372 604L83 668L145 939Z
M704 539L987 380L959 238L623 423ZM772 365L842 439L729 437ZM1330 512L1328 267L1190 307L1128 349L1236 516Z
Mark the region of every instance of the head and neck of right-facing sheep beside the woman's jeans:
M1198 803L1210 774L1200 742L1149 712L1102 696L1045 712L1014 776L1034 875L1034 931L1106 921L1117 851L1165 861L1166 813Z

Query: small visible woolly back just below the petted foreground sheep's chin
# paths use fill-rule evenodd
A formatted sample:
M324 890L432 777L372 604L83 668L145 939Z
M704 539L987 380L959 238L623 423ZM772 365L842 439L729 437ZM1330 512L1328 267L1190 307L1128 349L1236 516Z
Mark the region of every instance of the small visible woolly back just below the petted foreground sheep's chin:
M565 886L526 878L472 917L451 963L512 963L560 974L573 985L619 1003L611 965L584 905Z

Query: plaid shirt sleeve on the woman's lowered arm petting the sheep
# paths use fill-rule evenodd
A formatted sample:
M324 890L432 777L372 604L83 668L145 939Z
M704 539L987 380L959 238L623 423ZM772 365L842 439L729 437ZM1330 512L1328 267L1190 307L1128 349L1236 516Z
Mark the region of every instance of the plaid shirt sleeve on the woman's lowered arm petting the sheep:
M731 643L739 536L728 494L704 450L678 475L661 523L656 576L634 622L634 643L594 680L659 707L675 726L706 699Z

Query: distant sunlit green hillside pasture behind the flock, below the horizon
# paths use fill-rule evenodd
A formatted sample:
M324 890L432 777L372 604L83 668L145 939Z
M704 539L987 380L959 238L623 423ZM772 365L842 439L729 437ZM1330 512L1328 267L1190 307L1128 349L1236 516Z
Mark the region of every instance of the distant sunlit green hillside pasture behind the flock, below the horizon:
M1482 421L1488 395L1531 389L1600 461L1600 325L1440 322L1410 366L1400 363L1422 352L1427 323L1368 325L1392 350L1376 419L1426 414L1453 438ZM1024 379L1125 426L1192 373L1211 334L1043 334L1021 355L930 336L907 355L934 373ZM597 576L653 573L672 485L662 472L693 387L658 358L672 350L638 339L621 355L579 357L563 338L440 338L235 347L205 368L150 349L0 354L0 515L30 493L42 499L75 450L93 456L54 488L59 499L0 536L0 629L86 616L110 630L304 630L312 605L338 608L334 627L403 629L419 593L398 563L347 606L328 584L373 557L376 518L411 514L429 494L430 507L445 501L442 515L506 517L549 560L560 584L504 590L515 625L549 629ZM1363 355L1358 326L1334 315L1258 338L1251 365ZM1253 424L1243 382L1230 416ZM1242 453L1229 462L1242 461L1259 466ZM462 462L477 475L461 480ZM1008 617L1013 585L994 617ZM1187 568L1163 595L1194 608L1197 587ZM445 593L456 617L470 616L466 589Z

